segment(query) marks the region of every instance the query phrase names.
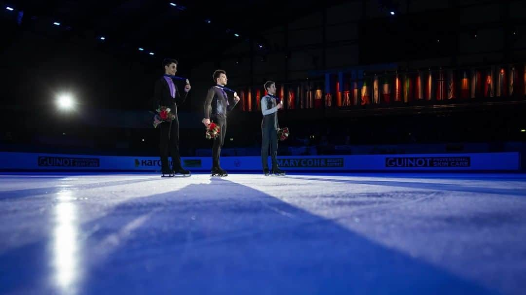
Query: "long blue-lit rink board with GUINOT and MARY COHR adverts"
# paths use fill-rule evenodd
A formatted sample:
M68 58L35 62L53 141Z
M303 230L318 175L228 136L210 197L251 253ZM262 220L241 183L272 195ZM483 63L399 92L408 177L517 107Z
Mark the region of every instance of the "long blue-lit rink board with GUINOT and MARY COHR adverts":
M159 157L0 152L3 171L159 171ZM270 158L269 164L270 164ZM209 171L211 157L183 157L190 171ZM278 156L287 171L517 171L520 154L459 153L403 155ZM228 171L261 171L259 156L225 156Z

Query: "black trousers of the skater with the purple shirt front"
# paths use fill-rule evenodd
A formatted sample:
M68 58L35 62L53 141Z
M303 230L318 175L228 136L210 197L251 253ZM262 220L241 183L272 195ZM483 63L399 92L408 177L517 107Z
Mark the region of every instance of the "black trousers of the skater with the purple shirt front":
M163 122L159 124L159 127L161 129L159 139L161 171L163 173L170 171L170 163L168 162L168 152L170 152L173 165L171 170L177 172L181 168L181 157L179 155L179 119L175 117L171 123Z

